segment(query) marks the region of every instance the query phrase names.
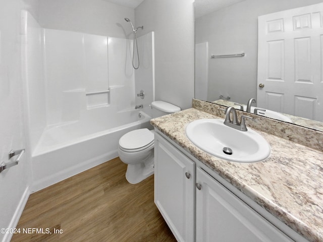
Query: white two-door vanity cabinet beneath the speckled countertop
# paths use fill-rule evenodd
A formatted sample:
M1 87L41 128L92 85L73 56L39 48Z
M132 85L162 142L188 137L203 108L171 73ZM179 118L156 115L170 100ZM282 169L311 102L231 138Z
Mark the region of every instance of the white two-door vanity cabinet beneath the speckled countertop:
M178 241L294 241L157 132L154 149L154 202Z

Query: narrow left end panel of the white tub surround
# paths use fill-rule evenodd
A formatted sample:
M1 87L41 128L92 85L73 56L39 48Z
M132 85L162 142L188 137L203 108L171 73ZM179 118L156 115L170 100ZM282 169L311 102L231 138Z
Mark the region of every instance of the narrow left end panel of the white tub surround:
M43 69L42 52L42 28L27 12L22 11L22 21L24 28L22 32L22 78L25 105L28 114L25 113L28 143L33 149L42 132L46 127L46 102L45 102L45 82ZM27 45L28 43L28 45ZM42 100L42 101L39 101ZM32 135L31 135L32 134Z

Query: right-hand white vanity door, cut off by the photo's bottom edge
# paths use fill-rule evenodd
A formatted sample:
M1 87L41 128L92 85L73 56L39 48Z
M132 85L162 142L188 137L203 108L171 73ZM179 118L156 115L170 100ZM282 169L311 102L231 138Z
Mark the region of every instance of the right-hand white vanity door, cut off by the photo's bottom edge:
M199 167L196 184L196 241L293 241Z

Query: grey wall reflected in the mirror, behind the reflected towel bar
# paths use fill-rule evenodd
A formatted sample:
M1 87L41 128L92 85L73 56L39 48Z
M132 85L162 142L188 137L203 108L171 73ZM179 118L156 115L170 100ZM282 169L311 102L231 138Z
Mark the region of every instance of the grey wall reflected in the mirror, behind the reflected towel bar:
M208 60L208 99L220 95L247 103L256 98L258 16L320 3L321 0L246 0L195 20L195 42L208 41L208 53L245 52L244 57Z

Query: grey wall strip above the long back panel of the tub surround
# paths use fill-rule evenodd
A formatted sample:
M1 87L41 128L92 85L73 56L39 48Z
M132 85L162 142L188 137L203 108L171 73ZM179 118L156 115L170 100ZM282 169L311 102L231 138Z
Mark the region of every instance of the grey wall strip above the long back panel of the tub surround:
M103 0L41 0L39 24L48 29L125 38L132 28L134 10Z

